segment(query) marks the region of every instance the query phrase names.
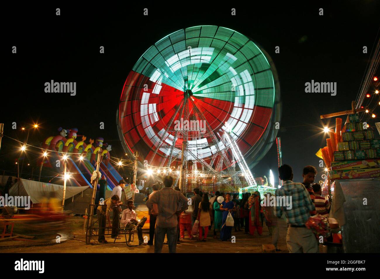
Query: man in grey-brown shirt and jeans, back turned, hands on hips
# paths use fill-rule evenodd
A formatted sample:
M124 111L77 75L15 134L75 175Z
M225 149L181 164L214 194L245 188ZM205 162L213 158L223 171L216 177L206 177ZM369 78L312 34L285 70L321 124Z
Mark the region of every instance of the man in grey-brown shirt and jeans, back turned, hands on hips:
M154 203L158 205L158 216L155 230L154 252L161 253L162 245L165 240L165 234L168 238L169 253L175 253L177 247L177 216L188 208L187 199L181 192L171 188L173 177L164 178L164 187L149 196L146 202L148 208L152 208ZM179 202L183 202L180 211Z

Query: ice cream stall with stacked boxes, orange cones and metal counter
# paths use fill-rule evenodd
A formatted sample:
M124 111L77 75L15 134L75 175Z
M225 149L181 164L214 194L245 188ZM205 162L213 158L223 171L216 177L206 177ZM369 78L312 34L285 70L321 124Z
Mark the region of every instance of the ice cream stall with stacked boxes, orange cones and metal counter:
M357 113L336 118L321 150L328 170L330 218L339 222L344 252L380 249L380 139Z

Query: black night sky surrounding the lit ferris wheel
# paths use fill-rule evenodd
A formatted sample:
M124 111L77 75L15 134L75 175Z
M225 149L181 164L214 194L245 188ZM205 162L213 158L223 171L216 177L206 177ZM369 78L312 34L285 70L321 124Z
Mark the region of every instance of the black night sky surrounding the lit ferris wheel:
M38 122L41 129L31 132L31 144L56 135L60 126L76 127L87 139L103 136L113 145L113 155L122 156L116 110L132 66L170 33L196 25L220 25L249 36L271 55L280 80L283 163L293 166L298 181L303 166L318 166L315 153L326 144L325 135L319 133L323 127L319 116L350 109L356 98L379 28L376 2L4 7L5 88L0 121L5 123L5 134L20 140L25 133L13 131L11 123L20 128ZM55 15L57 7L60 16ZM143 8L149 9L148 16L143 16ZM231 8L236 8L236 16L231 16ZM318 15L319 8L324 9L323 16ZM11 53L12 46L17 54ZM105 54L99 53L100 46ZM279 54L275 46L280 47ZM368 47L367 54L363 46ZM76 82L77 95L45 93L44 83L52 79ZM305 93L305 83L311 80L337 82L337 95ZM104 130L99 129L101 121ZM13 145L3 138L1 169L14 169L14 162L7 161L13 158ZM269 169L277 181L275 145L252 172L268 176Z

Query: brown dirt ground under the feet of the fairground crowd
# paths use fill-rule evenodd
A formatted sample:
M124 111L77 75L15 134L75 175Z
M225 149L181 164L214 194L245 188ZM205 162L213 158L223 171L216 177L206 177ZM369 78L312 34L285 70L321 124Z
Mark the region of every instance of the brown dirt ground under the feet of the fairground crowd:
M287 233L287 225L285 220L279 220L280 222L280 237L278 241L278 247L281 249L277 253L287 253L288 249L285 242L285 237ZM2 247L0 253L153 253L154 246L137 246L128 247L125 244L125 238L123 235L120 240L116 240L113 243L113 239L106 236L106 240L109 241L107 244L95 244L86 245L85 235L82 233L82 229L77 228L74 231L75 238L61 243L49 245L49 246L32 246L32 247ZM148 236L149 232L144 232L144 236ZM257 235L246 235L244 232L234 232L232 229L232 235L236 236L236 242L231 243L230 241L219 241L218 239L212 238L213 231L209 232L206 242L199 242L196 240L188 239L188 235L185 232L185 239L181 240L177 244L177 253L219 253L219 252L230 252L230 253L261 253L262 244L271 244L272 236L269 236L268 227L264 223L263 234L261 236ZM137 239L137 235L135 235ZM10 242L6 241L6 242ZM12 241L12 243L16 241ZM9 244L12 244L9 243ZM8 245L9 245L8 244ZM20 242L16 243L20 245ZM13 244L13 245L16 245ZM29 244L29 243L28 243ZM29 244L30 245L30 244ZM162 249L163 253L168 252L168 245L164 245Z

